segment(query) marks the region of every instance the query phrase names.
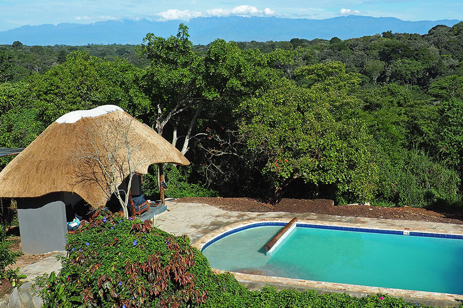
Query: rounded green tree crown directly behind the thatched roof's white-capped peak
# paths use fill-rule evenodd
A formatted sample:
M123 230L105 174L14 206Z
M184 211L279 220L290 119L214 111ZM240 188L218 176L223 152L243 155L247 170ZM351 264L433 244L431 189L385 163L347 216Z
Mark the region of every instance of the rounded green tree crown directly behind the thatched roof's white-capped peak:
M132 115L144 114L148 98L139 88L141 70L125 60L104 61L73 52L66 61L31 79L31 91L46 124L66 112L113 104Z

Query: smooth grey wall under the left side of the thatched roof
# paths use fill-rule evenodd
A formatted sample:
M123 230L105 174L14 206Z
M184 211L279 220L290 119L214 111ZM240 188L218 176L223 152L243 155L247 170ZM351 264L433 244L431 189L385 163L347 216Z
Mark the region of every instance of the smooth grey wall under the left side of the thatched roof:
M60 193L17 199L21 246L24 253L43 254L64 250L66 209Z

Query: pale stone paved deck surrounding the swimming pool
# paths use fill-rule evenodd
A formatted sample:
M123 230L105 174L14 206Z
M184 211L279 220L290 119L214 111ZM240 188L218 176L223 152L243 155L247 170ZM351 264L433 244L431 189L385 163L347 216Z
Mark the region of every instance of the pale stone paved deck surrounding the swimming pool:
M183 235L191 239L194 246L201 248L213 237L248 221L290 221L297 217L298 222L329 224L373 229L409 230L411 232L429 232L463 235L463 225L434 223L426 221L389 220L365 217L342 217L314 213L251 213L226 211L208 204L166 202L168 210L154 217L154 225L166 232ZM221 271L217 271L221 272ZM353 296L365 296L371 293L389 294L403 297L407 301L421 302L433 306L457 306L462 296L451 294L397 290L390 288L365 287L341 283L328 283L300 279L270 277L234 273L237 280L250 288L259 288L265 284L276 287L291 287L297 290L312 288L320 293L346 292Z

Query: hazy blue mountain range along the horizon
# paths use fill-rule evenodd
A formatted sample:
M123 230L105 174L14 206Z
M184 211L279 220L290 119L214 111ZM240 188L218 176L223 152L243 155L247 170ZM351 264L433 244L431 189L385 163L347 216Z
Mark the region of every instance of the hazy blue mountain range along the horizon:
M278 17L200 17L185 22L193 44L208 44L216 38L226 41L290 41L291 38L341 40L385 31L428 33L436 25L453 26L458 20L406 22L394 17L342 16L326 20ZM148 32L175 35L181 21L106 21L94 24L62 23L57 26L23 26L0 32L0 44L20 41L24 45L140 44Z

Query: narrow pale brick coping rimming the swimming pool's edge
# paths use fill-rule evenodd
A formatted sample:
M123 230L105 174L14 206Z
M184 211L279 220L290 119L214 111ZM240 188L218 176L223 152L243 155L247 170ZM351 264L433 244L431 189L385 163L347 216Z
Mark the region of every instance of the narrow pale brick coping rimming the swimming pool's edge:
M231 230L237 228L243 228L246 226L251 226L253 224L259 223L288 223L291 219L283 218L262 218L262 219L252 219L242 222L237 222L229 224L222 228L216 229L197 241L192 243L192 246L198 248L200 251L203 247L208 244L210 241L230 232ZM426 228L398 228L391 226L382 226L378 227L369 227L367 224L360 223L345 223L345 222L327 222L327 221L318 221L318 220L307 220L299 219L297 224L309 224L309 225L319 225L326 227L334 227L334 229L368 229L373 230L375 233L387 233L387 231L394 232L403 232L409 233L409 236L428 236L428 237L438 237L435 235L447 234L458 236L458 239L463 239L461 233L457 233L453 230L435 230L435 229L426 229ZM244 228L243 228L244 229ZM381 232L385 230L386 232ZM363 231L365 232L365 231ZM391 233L389 233L391 234ZM222 271L221 269L213 268L213 271L216 273L226 273L227 271ZM403 298L416 298L416 299L425 299L425 300L442 300L442 301L463 301L463 295L459 294L448 294L448 293L437 293L437 292L426 292L426 291L413 291L413 290L401 290L396 288L387 288L387 287L373 287L373 286L364 286L356 284L345 284L345 283L335 283L335 282L325 282L325 281L314 281L314 280L304 280L304 279L294 279L294 278L284 278L284 277L273 277L273 276L262 276L262 275L253 275L253 274L243 274L235 272L227 272L235 276L238 281L251 281L251 282L260 282L268 284L279 284L286 285L288 287L304 287L304 288L324 288L332 292L356 292L356 293L367 293L367 294L388 294L396 297Z

